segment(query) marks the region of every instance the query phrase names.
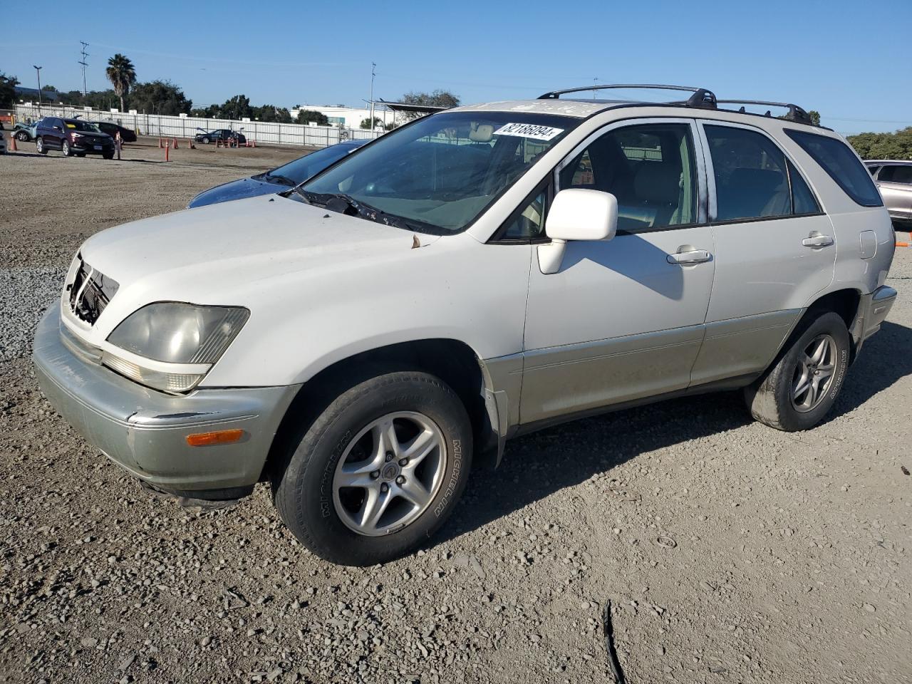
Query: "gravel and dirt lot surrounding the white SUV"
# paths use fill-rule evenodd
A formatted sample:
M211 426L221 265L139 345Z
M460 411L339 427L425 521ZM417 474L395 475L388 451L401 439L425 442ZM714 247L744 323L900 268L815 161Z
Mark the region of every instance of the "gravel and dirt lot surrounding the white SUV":
M0 158L0 681L610 681L606 600L631 683L912 681L912 249L816 430L736 395L546 430L385 566L306 553L263 486L184 510L89 447L27 358L78 244L298 153Z

